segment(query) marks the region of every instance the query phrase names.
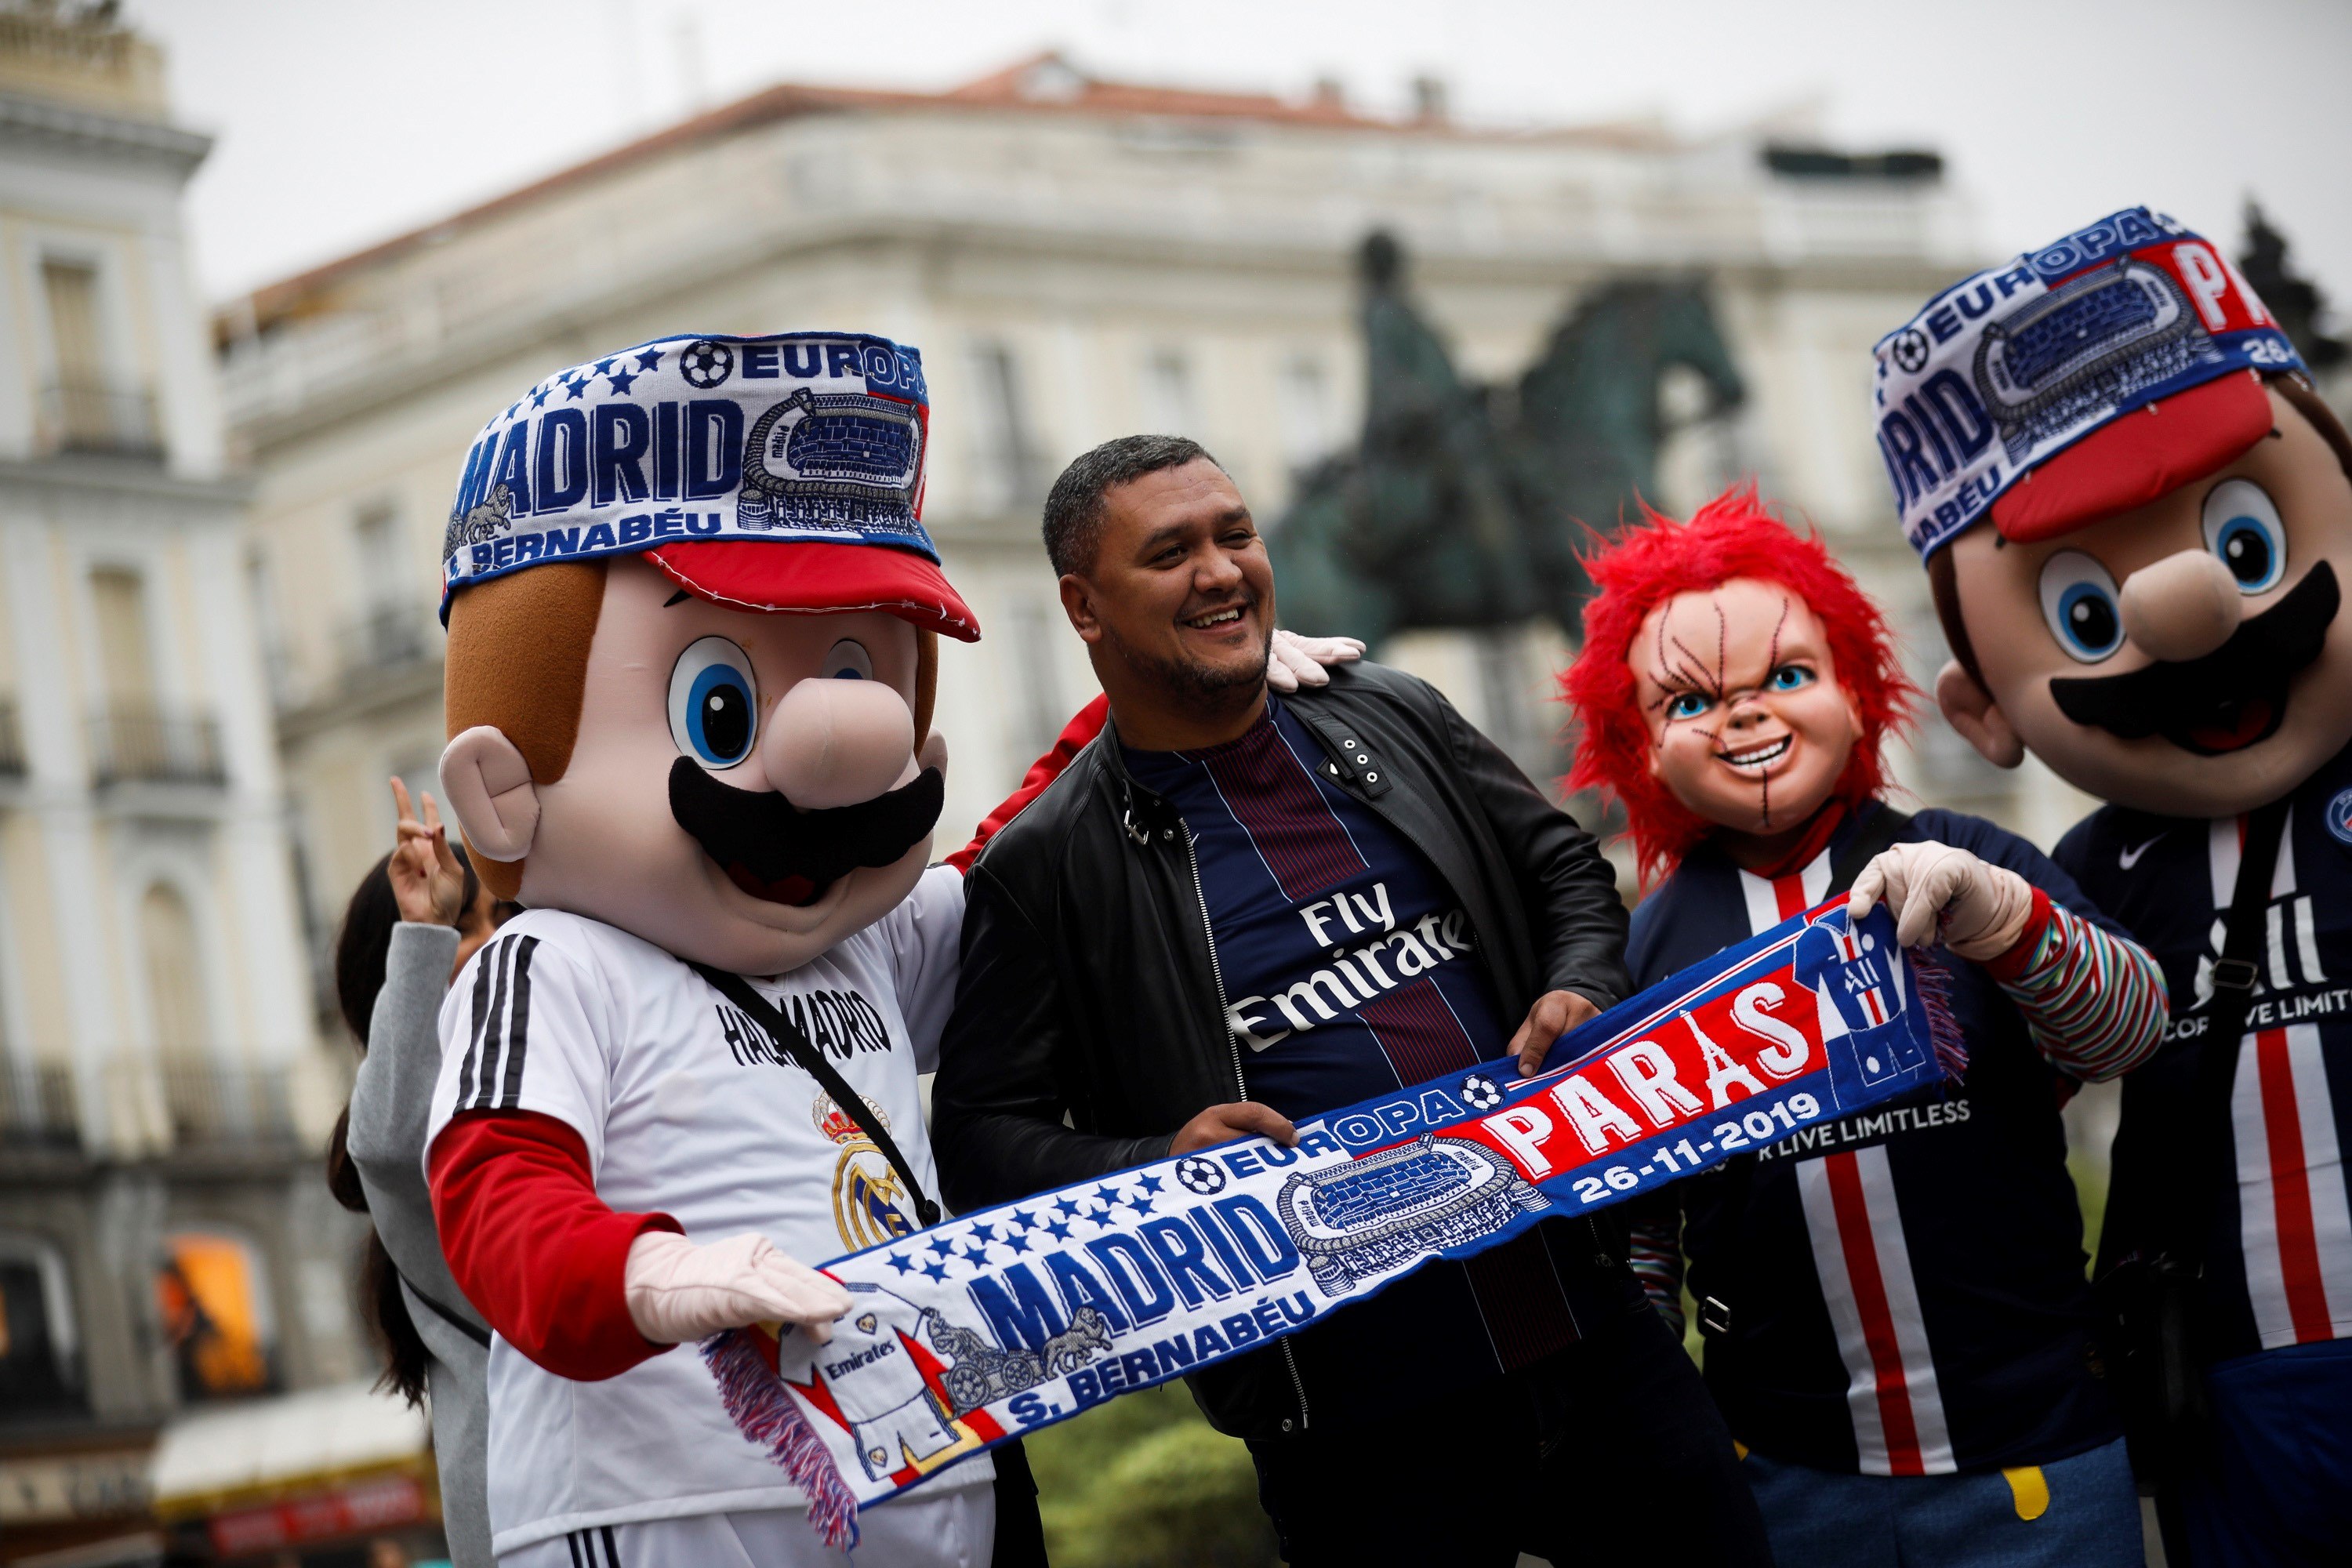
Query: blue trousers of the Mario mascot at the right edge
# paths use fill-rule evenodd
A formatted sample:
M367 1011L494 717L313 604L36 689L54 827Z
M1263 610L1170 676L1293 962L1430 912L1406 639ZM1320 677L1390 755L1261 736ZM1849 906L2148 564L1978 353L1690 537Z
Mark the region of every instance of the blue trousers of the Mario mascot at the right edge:
M2218 1361L2206 1399L2218 1455L2180 1497L2194 1568L2352 1563L2352 1340Z

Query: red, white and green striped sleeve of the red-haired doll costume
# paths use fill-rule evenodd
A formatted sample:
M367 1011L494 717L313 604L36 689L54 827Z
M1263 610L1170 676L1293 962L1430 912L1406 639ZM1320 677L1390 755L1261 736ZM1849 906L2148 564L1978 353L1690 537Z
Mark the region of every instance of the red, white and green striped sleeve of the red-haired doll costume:
M2034 889L2018 945L1985 966L2051 1067L2098 1084L2164 1044L2164 971L2131 938L2103 931Z

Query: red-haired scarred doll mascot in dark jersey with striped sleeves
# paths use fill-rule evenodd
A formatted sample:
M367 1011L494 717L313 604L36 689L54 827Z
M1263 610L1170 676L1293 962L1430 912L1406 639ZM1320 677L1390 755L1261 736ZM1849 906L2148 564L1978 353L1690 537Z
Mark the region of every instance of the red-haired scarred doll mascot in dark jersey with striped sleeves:
M1651 985L1851 884L1943 943L1957 1086L1806 1128L1635 1208L1635 1267L1682 1321L1773 1556L1806 1568L2126 1568L2138 1505L2091 1371L2058 1107L2145 1060L2154 961L2023 839L1879 799L1912 689L1879 609L1813 536L1733 491L1590 562L1566 675L1571 785L1623 802Z

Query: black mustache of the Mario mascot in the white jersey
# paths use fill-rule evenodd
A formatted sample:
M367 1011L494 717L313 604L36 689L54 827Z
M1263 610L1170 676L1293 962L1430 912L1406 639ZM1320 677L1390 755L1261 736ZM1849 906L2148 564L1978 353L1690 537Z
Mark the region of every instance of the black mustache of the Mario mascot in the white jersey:
M670 816L753 898L804 905L866 865L894 865L938 823L948 783L924 769L913 783L856 806L800 811L776 790L736 790L670 764Z

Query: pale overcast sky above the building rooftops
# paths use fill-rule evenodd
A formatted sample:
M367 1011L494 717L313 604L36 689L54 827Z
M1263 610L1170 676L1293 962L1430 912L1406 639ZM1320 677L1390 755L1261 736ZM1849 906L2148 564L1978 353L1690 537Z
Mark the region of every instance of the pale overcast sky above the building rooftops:
M1663 115L1705 134L1818 106L1842 146L1926 146L1987 254L2147 202L2237 244L2258 195L2352 320L2345 0L129 0L172 54L223 299L779 80L948 87L1044 47L1150 82L1303 96L1336 78L1456 115ZM724 221L724 214L710 214ZM680 235L691 242L691 235Z

